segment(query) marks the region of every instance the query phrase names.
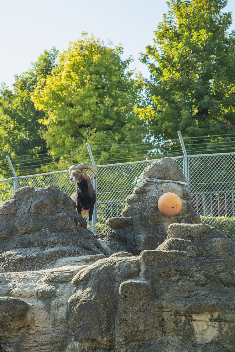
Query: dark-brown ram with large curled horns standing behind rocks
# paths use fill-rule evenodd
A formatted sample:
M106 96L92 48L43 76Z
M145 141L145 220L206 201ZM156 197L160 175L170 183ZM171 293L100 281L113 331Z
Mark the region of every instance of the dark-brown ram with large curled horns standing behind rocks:
M92 230L92 214L96 202L95 190L91 184L91 177L86 169L93 172L93 177L97 178L97 169L89 163L82 163L78 166L72 165L69 168L69 181L76 183L76 191L71 198L76 203L77 212L85 218L89 214L89 229Z

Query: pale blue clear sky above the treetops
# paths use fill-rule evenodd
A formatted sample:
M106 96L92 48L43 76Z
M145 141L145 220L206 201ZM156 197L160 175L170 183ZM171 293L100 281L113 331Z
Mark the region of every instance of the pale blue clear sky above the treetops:
M233 13L235 0L224 12ZM124 47L124 58L134 56L132 68L144 76L147 68L139 53L153 44L154 30L167 12L165 0L0 0L0 83L14 83L44 50L67 50L82 31Z

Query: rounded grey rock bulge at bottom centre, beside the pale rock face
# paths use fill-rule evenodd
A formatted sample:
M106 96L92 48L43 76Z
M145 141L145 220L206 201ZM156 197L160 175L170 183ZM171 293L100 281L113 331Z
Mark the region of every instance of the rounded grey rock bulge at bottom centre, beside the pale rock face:
M75 341L94 348L115 347L115 286L139 272L138 258L123 254L100 259L74 277L76 293L69 298L68 323Z

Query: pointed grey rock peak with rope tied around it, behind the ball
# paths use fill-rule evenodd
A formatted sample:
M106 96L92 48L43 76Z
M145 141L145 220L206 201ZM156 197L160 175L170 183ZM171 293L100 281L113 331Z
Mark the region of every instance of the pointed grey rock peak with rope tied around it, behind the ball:
M152 180L186 182L186 178L175 161L163 158L147 166L141 175ZM128 251L140 254L146 249L156 249L167 237L167 228L174 222L199 223L200 217L193 211L187 186L174 182L159 182L163 193L173 192L182 200L182 208L175 216L163 215L157 207L161 196L155 182L147 182L134 188L126 198L122 217L107 219L107 227L97 238L112 252Z

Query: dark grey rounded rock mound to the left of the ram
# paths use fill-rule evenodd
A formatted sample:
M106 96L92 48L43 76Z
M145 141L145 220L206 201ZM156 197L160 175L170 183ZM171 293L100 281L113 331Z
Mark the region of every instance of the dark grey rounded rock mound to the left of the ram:
M72 199L55 186L22 187L0 208L0 270L49 268L58 258L103 253Z

